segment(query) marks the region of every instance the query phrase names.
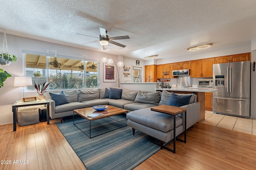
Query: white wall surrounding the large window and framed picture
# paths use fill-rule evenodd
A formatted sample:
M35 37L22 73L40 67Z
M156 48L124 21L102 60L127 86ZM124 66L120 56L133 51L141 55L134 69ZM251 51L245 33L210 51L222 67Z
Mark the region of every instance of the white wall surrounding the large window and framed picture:
M3 38L4 34L0 33L0 40ZM47 49L56 50L57 55L79 57L81 59L82 55L86 55L86 59L100 61L100 87L118 87L117 78L116 82L103 82L103 63L101 62L101 59L102 57L112 56L117 62L119 61L120 56L109 55L86 49L79 49L66 45L48 43L44 41L18 37L14 35L6 35L6 38L8 42L9 54L15 55L18 59L16 63L12 62L10 66L1 66L1 68L7 71L9 74L11 74L12 77L7 78L7 80L4 82L4 87L0 88L0 125L12 123L12 104L14 104L16 100L19 100L19 88L14 87L13 84L15 76L24 75L22 50L35 51L41 53L47 53ZM25 97L37 96L36 92L29 92L27 95L28 96Z

